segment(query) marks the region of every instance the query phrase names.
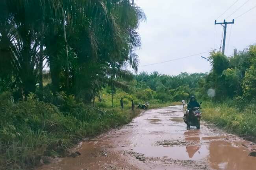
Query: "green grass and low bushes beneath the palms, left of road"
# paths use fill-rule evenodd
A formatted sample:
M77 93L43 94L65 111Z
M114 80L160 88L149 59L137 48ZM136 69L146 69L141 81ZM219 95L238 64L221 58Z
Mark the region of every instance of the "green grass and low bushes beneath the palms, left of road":
M0 95L0 169L28 169L42 156L69 156L67 149L79 139L95 136L128 123L130 112L92 110L74 96L60 96L58 107L30 94L14 102Z

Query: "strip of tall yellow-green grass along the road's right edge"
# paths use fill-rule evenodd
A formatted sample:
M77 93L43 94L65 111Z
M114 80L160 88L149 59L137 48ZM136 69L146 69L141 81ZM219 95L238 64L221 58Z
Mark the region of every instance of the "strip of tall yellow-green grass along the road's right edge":
M202 118L240 136L256 137L256 106L248 105L240 110L230 103L203 103Z

